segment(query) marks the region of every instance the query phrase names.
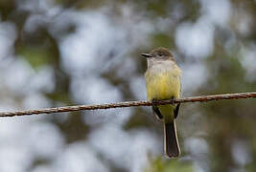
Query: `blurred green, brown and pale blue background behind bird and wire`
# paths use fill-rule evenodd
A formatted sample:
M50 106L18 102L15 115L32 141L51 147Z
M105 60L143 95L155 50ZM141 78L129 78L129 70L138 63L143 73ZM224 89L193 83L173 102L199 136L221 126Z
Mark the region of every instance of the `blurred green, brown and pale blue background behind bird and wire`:
M255 0L0 0L0 111L144 100L160 46L183 97L255 91L255 18ZM256 171L255 103L183 104L175 160L150 107L0 118L0 171Z

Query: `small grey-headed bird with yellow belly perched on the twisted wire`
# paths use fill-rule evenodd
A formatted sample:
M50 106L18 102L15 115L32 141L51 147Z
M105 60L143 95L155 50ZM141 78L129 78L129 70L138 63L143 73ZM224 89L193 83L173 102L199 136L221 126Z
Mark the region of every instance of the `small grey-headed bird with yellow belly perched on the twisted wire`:
M153 104L158 100L175 99L181 93L181 69L177 66L174 54L166 48L156 48L150 54L141 54L147 58L145 73L147 97ZM180 148L176 133L175 119L180 103L152 105L156 118L164 124L164 151L168 158L177 158Z

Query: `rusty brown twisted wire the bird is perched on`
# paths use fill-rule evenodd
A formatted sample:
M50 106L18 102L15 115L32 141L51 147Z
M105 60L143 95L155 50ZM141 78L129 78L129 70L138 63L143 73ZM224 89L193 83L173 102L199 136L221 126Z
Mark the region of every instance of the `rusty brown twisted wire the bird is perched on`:
M172 103L186 103L186 102L206 102L211 100L221 99L244 99L256 97L256 92L250 93L236 93L236 94L224 94L224 95L212 95L212 96L201 96L201 97L183 97L174 100L161 100L153 102L154 105L164 105ZM0 117L14 117L14 116L30 116L38 114L53 114L61 112L73 112L81 110L97 110L97 109L110 109L110 108L122 108L122 107L134 107L134 106L151 106L151 101L127 101L117 103L106 103L106 104L92 104L92 105L77 105L77 106L64 106L55 108L44 108L35 110L25 110L16 112L0 112Z

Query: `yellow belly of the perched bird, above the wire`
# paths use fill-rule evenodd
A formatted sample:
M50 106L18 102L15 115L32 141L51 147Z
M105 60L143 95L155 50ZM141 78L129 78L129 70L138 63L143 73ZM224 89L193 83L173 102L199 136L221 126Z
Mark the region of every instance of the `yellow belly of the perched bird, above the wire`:
M177 70L156 73L148 71L145 75L148 99L171 99L172 97L179 97L179 75L179 71Z

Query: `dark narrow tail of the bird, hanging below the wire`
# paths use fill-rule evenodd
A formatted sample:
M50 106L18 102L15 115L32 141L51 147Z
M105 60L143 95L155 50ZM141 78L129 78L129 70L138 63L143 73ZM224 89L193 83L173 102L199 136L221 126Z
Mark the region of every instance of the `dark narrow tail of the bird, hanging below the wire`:
M178 157L180 149L176 135L175 119L173 120L173 122L164 123L164 137L165 154L169 158Z

